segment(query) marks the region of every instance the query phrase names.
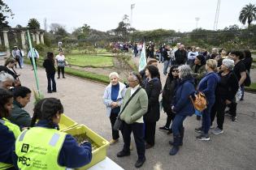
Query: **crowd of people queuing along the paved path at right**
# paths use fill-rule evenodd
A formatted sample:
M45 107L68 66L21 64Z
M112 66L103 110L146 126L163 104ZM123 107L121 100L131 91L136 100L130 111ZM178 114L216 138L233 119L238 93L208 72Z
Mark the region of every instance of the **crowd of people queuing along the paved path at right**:
M116 117L123 121L120 131L124 147L117 153L117 157L130 155L130 134L133 133L138 155L136 168L144 164L145 150L154 147L160 105L163 106L163 112L167 113L167 121L159 130L173 134L173 140L169 142L169 154L176 155L184 144L183 122L186 117L196 114L197 120L202 120L202 125L195 129L199 133L198 140L209 141L210 131L215 135L223 134L225 114L228 113L232 121L237 120L237 103L244 100L244 87L250 82L252 57L249 50L226 52L225 49L218 51L214 48L212 53L208 53L198 47L185 49L179 43L174 49L170 45L162 45L157 54L160 56L158 60L148 59L147 66L140 74L131 72L128 75L126 87L119 82L117 73L111 73L111 83L103 96L112 129ZM158 62L163 62L163 74L167 75L163 89ZM132 96L135 91L139 92ZM201 112L193 106L193 99L199 92L207 101L206 108ZM228 111L226 108L229 108ZM213 124L215 117L216 126ZM119 135L115 134L119 132L112 130L111 145L118 142Z

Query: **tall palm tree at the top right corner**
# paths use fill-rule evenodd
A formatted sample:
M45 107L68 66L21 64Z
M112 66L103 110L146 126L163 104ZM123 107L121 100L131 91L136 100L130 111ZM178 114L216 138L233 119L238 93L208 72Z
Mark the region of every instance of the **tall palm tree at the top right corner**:
M239 20L241 23L245 25L246 20L248 23L248 28L250 24L256 20L256 6L249 3L249 5L246 5L245 7L242 8L240 15L239 15Z

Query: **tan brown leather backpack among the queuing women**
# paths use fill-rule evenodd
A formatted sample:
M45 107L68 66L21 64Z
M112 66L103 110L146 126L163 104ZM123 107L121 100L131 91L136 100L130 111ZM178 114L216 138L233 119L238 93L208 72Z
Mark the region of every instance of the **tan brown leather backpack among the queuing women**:
M190 96L190 100L193 103L193 107L202 112L204 109L207 108L207 100L205 94L199 91L194 97Z

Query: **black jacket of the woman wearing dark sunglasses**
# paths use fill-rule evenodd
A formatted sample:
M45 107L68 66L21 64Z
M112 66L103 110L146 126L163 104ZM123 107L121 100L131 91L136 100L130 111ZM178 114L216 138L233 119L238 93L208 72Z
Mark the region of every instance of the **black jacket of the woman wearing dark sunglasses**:
M166 113L171 113L171 103L177 84L178 79L173 79L171 73L169 73L163 87L163 111Z

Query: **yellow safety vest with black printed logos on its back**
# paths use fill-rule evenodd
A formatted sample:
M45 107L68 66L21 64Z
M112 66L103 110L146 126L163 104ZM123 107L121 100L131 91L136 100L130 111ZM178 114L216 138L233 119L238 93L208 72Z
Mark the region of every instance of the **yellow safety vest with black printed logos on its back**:
M58 163L65 137L59 130L43 127L24 130L15 142L18 167L22 170L66 169Z

